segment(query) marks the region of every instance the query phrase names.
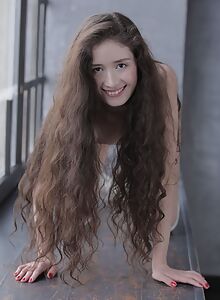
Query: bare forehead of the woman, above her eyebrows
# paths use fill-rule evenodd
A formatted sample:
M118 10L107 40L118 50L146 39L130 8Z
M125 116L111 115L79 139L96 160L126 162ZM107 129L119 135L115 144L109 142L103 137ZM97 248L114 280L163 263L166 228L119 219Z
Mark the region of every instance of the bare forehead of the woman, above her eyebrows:
M94 46L92 57L93 64L108 64L123 58L134 59L133 53L127 46L113 40L105 40Z

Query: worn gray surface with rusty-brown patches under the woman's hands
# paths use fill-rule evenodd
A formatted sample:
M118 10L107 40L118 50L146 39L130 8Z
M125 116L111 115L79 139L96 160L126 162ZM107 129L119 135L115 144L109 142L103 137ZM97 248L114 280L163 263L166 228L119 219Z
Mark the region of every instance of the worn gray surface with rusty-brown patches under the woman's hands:
M174 268L199 271L195 248L192 243L191 230L185 211L185 196L180 189L181 214L178 226L172 233L168 262ZM150 264L145 265L148 273L139 269L135 271L126 262L122 243L117 238L114 245L113 236L107 226L107 208L100 213L101 226L98 231L99 244L90 268L83 272L85 285L71 288L64 285L59 277L52 280L40 276L31 284L16 282L13 272L20 264L22 249L27 243L27 232L19 230L9 239L12 231L12 207L16 194L0 205L0 299L23 300L35 299L76 299L76 300L204 300L202 288L187 284L178 284L173 289L151 277ZM13 246L11 244L15 246ZM68 280L68 278L67 278ZM74 284L69 281L71 284ZM161 298L162 297L162 298Z

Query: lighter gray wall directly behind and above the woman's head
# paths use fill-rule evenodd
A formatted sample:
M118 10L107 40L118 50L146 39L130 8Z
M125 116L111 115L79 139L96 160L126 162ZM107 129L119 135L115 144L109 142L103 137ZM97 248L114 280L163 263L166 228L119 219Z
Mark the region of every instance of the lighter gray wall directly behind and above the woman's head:
M186 0L51 0L47 10L44 115L52 101L57 74L80 24L89 15L119 11L139 27L156 58L177 72L180 93L183 76Z

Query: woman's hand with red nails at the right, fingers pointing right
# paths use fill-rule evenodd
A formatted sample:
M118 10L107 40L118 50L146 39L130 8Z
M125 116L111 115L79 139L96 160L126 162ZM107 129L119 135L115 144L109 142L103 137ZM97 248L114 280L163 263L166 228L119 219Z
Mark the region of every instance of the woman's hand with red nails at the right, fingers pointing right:
M155 268L152 272L152 278L162 281L168 286L176 287L177 282L188 283L197 287L209 288L205 278L195 271L184 271L170 268L168 265L162 265Z

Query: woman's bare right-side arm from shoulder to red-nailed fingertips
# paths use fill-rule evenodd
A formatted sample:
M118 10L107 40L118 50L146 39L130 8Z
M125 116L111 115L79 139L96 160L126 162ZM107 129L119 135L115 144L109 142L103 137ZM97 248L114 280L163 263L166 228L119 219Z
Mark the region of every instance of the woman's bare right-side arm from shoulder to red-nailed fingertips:
M178 180L179 180L179 153L177 151L178 135L178 104L177 104L177 79L175 72L168 66L162 65L163 72L166 74L167 94L170 101L173 124L167 120L166 141L169 154L166 161L166 174L164 186L166 197L160 202L164 218L158 226L161 233L162 242L154 245L152 250L152 277L155 280L162 281L169 286L176 286L176 282L183 282L195 285L197 287L208 288L207 281L195 271L184 271L170 268L167 264L167 251L170 240L170 231L177 218L178 208Z

